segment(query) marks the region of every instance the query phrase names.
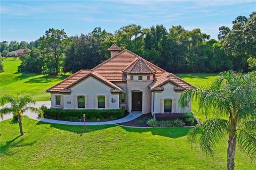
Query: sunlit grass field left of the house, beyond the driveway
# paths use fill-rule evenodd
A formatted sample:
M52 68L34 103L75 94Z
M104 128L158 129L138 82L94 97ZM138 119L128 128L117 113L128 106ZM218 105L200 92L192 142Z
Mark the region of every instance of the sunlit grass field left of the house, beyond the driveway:
M50 100L50 94L45 90L67 77L67 75L52 77L35 73L19 73L17 71L20 63L20 60L14 60L14 58L4 59L4 72L0 73L1 95L16 95L17 92L22 92L34 97L37 101Z

